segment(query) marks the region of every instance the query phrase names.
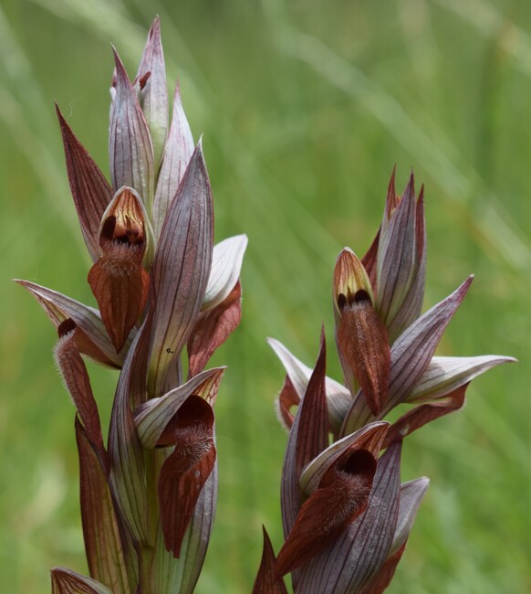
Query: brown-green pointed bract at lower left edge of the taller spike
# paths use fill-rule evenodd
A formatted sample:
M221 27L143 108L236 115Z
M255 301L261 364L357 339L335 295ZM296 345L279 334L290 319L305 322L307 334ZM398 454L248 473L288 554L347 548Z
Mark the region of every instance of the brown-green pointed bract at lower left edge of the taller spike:
M130 594L120 528L99 452L76 419L79 456L79 496L85 552L90 576L114 594Z

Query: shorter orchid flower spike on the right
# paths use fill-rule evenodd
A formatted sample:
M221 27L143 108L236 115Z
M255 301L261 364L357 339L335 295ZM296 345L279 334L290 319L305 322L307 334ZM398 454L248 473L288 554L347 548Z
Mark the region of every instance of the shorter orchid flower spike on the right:
M289 430L281 487L286 541L276 557L264 529L254 594L287 592L288 573L296 594L386 589L429 483L400 483L402 440L461 408L474 377L514 360L434 355L472 277L421 315L423 195L422 187L415 197L411 173L397 196L393 171L370 249L361 260L349 248L338 256L332 296L344 383L326 376L324 329L313 369L270 339L286 369L277 399ZM387 422L400 405L412 408Z

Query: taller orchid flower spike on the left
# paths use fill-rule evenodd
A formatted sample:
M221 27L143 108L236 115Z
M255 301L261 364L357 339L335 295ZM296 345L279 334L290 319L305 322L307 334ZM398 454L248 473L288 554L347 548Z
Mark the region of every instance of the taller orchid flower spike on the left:
M52 590L183 594L199 578L217 492L224 367L204 367L239 324L247 240L213 246L202 144L193 146L179 87L169 125L159 19L134 80L114 58L110 184L57 107L99 309L19 281L57 327L57 366L77 409L90 578L58 567ZM82 355L120 369L107 447Z

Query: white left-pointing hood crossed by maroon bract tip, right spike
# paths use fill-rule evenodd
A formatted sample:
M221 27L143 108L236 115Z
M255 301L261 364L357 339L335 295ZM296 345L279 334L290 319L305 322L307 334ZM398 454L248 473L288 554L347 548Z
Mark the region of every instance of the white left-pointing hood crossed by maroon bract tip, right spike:
M286 369L287 376L295 388L298 398L302 398L312 374L312 369L302 363L302 361L299 361L295 355L292 355L286 349L286 346L275 338L268 338L267 342ZM342 386L330 377L326 378L326 386L330 430L336 433L349 411L352 404L352 397L350 396L349 388Z

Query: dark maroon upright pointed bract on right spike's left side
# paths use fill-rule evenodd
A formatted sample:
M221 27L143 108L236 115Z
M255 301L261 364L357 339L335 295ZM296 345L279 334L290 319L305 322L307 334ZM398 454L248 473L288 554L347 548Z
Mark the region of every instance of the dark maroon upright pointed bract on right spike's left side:
M326 345L324 334L321 334L318 361L297 409L282 469L280 496L285 536L292 530L300 509L302 493L299 479L302 469L328 446L325 374Z

